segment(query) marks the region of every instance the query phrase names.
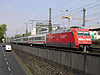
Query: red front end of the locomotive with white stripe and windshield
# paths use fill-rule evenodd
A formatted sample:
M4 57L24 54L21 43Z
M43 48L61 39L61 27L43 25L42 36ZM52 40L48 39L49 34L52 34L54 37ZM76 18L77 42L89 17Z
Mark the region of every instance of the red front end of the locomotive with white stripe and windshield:
M84 50L84 52L91 50L92 40L88 29L77 30L77 37L80 49Z

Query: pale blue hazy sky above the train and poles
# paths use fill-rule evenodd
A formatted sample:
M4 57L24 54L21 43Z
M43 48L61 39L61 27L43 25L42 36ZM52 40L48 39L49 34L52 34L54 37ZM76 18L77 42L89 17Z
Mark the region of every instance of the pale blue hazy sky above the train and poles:
M32 26L29 20L49 20L49 8L53 24L67 27L67 20L61 16L68 16L69 12L73 18L82 18L82 10L86 8L86 27L100 27L99 0L0 0L0 25L7 25L7 37L23 34L25 23L28 29ZM82 20L72 19L70 24L80 26Z

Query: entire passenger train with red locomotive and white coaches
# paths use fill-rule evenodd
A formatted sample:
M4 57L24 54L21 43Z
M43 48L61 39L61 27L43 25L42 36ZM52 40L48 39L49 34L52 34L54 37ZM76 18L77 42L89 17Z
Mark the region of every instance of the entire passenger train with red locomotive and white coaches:
M15 38L12 43L39 44L53 47L74 48L78 50L91 50L92 40L89 29L71 27L47 34L37 34L28 37Z

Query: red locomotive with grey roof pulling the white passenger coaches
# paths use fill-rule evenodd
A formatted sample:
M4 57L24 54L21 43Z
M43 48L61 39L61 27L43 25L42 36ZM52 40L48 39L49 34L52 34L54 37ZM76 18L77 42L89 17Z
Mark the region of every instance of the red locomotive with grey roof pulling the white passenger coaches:
M46 45L90 50L92 40L88 29L71 28L69 30L51 32L47 35Z

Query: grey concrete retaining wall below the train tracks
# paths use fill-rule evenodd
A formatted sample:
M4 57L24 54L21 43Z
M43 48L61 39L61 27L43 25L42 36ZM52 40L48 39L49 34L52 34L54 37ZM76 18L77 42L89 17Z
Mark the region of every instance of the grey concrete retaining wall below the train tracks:
M51 63L53 66L55 65L60 66L60 70L62 70L62 68L65 68L66 70L69 69L72 73L78 75L100 74L99 53L84 53L79 51L73 52L71 50L29 47L26 45L18 45L18 44L12 44L12 47L13 50L17 52L23 51L33 55L36 58L40 58L44 62Z

